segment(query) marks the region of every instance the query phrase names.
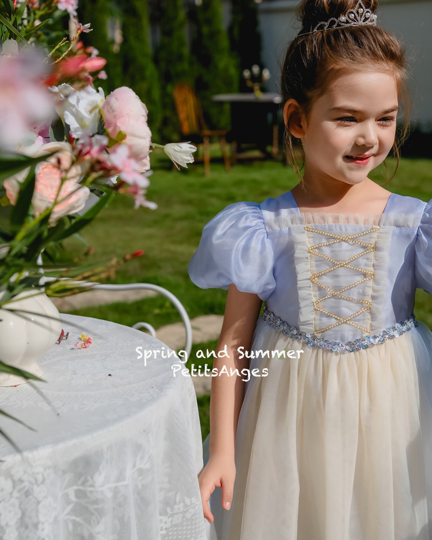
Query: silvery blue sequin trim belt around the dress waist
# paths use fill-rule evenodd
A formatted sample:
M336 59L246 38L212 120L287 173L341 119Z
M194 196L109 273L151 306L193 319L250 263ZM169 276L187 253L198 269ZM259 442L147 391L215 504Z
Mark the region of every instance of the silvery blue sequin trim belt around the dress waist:
M413 313L408 319L397 322L394 326L389 326L379 334L369 334L364 338L341 343L340 341L329 341L327 339L319 338L319 336L315 334L307 334L306 332L300 332L300 330L295 327L290 327L287 322L276 317L276 315L268 309L266 304L264 304L262 319L268 321L270 326L273 326L278 332L283 332L286 336L289 336L289 338L302 341L308 347L326 349L333 353L353 353L355 350L375 347L377 343L384 343L384 341L387 341L388 339L397 338L397 336L408 332L411 328L419 326Z

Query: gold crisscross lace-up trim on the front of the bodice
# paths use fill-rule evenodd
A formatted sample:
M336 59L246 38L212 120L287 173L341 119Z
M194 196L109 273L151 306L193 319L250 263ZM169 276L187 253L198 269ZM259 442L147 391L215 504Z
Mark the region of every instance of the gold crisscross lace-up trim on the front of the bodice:
M370 329L369 328L365 328L365 327L357 324L356 322L353 322L351 319L354 319L355 317L359 316L361 313L363 313L363 312L367 311L368 309L370 309L372 307L372 302L370 300L368 300L368 299L351 298L350 296L345 296L342 293L347 291L348 289L352 289L353 287L356 287L357 285L360 285L361 283L363 283L363 281L372 280L374 278L374 271L373 270L369 270L367 268L358 268L356 266L350 265L349 263L354 261L355 259L358 259L359 257L362 257L363 255L366 255L367 253L371 253L371 252L375 251L375 244L371 244L370 242L364 242L362 240L355 240L355 239L358 238L358 237L364 236L365 234L369 234L369 233L372 233L372 232L378 232L380 230L380 227L377 227L377 226L372 227L367 231L363 231L363 232L356 233L356 234L349 234L348 236L341 236L340 234L334 234L334 233L330 233L328 231L321 231L320 229L315 229L313 227L309 227L308 225L305 225L305 230L310 231L310 232L319 233L319 234L325 234L325 235L327 235L329 237L334 238L334 240L332 240L332 241L321 242L320 244L315 244L314 246L309 246L308 247L308 252L310 254L316 255L316 257L322 257L323 259L327 259L328 261L334 263L334 266L332 266L330 268L327 268L326 270L323 270L322 272L318 272L316 274L311 275L311 281L313 283L315 283L316 285L319 285L320 287L322 287L323 289L325 289L326 291L329 292L329 294L327 294L326 296L323 296L322 298L320 298L318 300L314 300L314 309L316 311L320 311L322 313L325 313L326 315L328 315L330 317L333 317L334 319L338 320L338 322L335 322L332 325L326 326L325 328L321 328L319 330L315 330L315 334L321 334L322 332L326 332L326 330L329 330L330 328L334 328L335 326L342 325L343 323L347 323L348 325L355 326L356 328L359 328L360 330L363 330L363 332L366 332L367 334L370 334ZM307 237L307 235L306 235L306 237ZM365 246L367 249L365 249L365 251L362 251L361 253L358 253L357 255L354 255L354 257L351 257L351 258L347 259L346 261L336 261L332 257L329 257L328 255L325 255L324 253L320 253L319 251L316 251L317 247L329 246L331 244L338 244L338 242L352 242L353 244L358 244L360 246ZM376 239L375 239L375 242L376 242ZM335 291L334 289L332 289L332 287L329 287L328 285L324 285L319 281L318 276L321 276L323 274L327 274L328 272L332 272L333 270L335 270L336 268L339 268L341 266L345 266L346 268L350 268L350 269L355 270L357 272L363 272L363 273L366 274L366 277L362 278L362 279L359 279L358 281L356 281L352 285L348 285L347 287L343 287L342 289L340 289L340 291ZM362 307L361 309L359 309L359 311L357 311L356 313L353 313L349 317L343 318L340 315L338 315L336 313L330 313L329 311L327 311L327 309L324 309L323 307L319 306L320 302L322 302L323 300L327 300L328 298L332 298L332 296L339 296L339 298L343 298L345 300L350 300L350 301L356 302L356 303L363 303L365 305L365 307Z

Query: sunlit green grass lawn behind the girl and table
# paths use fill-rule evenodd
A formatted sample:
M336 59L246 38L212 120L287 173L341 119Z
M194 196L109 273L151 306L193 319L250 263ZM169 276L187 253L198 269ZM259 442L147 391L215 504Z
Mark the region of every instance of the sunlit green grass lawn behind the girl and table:
M212 154L219 156L217 146L212 146ZM150 177L147 199L158 204L157 210L134 210L132 199L113 197L98 219L84 230L83 238L95 248L91 259L122 258L125 253L144 249L143 256L118 269L114 282L150 282L165 287L179 298L191 319L213 313L223 315L227 291L200 289L187 273L204 225L228 204L244 200L260 203L268 197L278 197L291 190L298 179L291 167L278 161L246 161L235 165L230 173L225 172L220 160L212 161L210 178L204 177L202 164L173 171L171 161L160 149L152 152L151 163L154 174ZM382 170L375 170L371 178L389 191L428 201L432 198L431 165L432 161L427 159L403 159L389 184L384 183ZM393 166L394 162L389 160L390 170ZM76 255L84 252L86 246L71 239L65 248ZM72 313L129 326L145 320L155 328L181 320L171 302L161 296ZM415 313L417 319L432 328L430 296L423 291L417 290ZM214 349L216 343L194 345L191 358L194 351ZM203 440L209 429L208 403L208 396L198 399Z

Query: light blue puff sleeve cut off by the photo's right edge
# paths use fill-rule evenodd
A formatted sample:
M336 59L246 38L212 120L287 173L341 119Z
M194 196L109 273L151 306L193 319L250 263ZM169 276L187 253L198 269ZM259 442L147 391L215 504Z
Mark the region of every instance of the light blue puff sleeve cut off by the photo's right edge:
M424 208L415 244L416 287L432 294L432 199Z

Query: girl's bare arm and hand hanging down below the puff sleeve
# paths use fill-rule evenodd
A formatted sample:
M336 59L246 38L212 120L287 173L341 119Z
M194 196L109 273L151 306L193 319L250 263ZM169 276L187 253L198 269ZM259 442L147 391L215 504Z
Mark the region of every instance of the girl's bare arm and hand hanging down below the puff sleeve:
M203 503L204 517L210 523L213 515L208 507L208 500L215 487L222 488L222 507L231 505L234 480L234 448L235 434L240 415L240 409L245 394L247 377L241 374L241 370L249 367L249 359L239 359L238 347L250 350L252 338L261 309L262 300L257 294L242 293L234 284L228 288L225 307L224 323L218 341L216 353L226 350L228 355L215 358L213 368L220 370L226 366L226 373L212 378L210 399L210 444L209 459L206 467L201 471L199 484L201 501ZM231 368L238 369L240 376L234 373L231 376Z

